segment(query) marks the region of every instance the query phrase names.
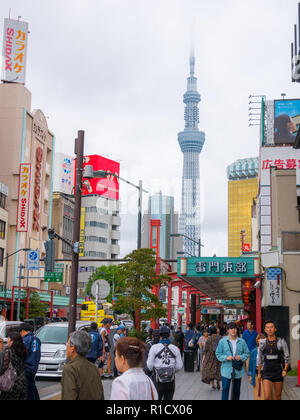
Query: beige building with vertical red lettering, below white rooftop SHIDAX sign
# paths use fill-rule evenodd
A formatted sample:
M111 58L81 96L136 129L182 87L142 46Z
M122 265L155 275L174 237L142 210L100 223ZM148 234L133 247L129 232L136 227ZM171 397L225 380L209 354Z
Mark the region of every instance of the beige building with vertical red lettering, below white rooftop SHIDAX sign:
M45 255L44 241L52 219L52 180L54 134L49 130L42 111L31 110L31 93L21 85L0 85L0 182L8 186L8 253L31 248ZM27 164L26 176L21 179L20 164ZM26 178L26 180L25 180ZM22 181L22 184L20 183ZM20 186L20 195L19 195ZM21 189L22 188L22 189ZM21 213L23 228L17 232L18 199L23 191L28 192L26 209ZM18 216L18 222L20 215ZM27 225L27 228L26 228ZM21 224L22 227L22 224ZM20 264L26 265L25 252L21 251L8 259L8 286L18 284ZM23 286L46 289L44 270L23 271ZM35 278L33 278L35 277Z

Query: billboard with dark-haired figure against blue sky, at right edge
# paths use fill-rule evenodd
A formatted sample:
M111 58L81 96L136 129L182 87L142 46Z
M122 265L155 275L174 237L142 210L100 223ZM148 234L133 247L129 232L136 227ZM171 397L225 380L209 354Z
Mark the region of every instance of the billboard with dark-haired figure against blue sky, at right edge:
M300 99L274 101L274 144L294 144L300 127Z

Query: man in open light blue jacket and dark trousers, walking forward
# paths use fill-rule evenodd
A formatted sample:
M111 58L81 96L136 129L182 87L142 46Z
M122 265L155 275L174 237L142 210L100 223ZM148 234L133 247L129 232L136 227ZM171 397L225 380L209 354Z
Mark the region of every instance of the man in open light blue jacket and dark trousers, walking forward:
M232 399L240 399L241 382L244 376L244 362L249 357L248 346L242 338L237 336L237 325L231 322L227 325L228 336L223 337L216 350L216 357L222 363L222 400L229 399L230 384L232 382Z

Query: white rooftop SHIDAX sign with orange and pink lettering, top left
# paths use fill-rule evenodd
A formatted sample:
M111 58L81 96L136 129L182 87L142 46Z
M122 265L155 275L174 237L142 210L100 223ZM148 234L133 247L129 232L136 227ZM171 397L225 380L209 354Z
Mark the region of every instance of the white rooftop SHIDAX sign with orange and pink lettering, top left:
M25 84L28 23L4 19L1 80Z

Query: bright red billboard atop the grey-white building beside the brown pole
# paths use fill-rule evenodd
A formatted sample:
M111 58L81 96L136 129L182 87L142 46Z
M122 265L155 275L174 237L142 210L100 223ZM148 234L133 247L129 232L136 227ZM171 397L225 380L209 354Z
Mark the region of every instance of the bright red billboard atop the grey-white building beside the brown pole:
M119 179L116 176L120 175L120 163L99 155L90 155L84 157L83 171L86 165L92 165L94 171L105 171L109 175L106 178L83 178L82 195L100 195L119 200Z

